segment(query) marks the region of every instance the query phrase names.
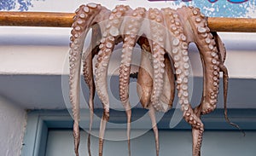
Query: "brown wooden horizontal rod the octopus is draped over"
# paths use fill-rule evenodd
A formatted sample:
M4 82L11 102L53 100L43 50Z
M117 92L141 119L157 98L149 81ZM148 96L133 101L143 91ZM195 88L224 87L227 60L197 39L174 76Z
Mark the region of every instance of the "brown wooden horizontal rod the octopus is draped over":
M73 13L0 12L0 26L71 27ZM212 32L256 32L256 19L208 17Z

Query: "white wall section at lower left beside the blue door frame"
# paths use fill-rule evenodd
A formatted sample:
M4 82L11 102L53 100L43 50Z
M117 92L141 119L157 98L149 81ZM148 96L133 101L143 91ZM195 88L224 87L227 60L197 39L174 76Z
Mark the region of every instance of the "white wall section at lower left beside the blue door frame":
M26 126L26 111L0 95L0 155L19 156Z

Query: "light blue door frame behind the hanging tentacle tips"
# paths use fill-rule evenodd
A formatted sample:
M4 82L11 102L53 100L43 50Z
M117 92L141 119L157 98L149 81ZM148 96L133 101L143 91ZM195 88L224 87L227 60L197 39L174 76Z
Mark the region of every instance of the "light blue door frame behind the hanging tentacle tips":
M101 116L102 110L96 110L96 115ZM143 109L132 110L132 118L138 118L146 113ZM209 115L202 117L206 130L236 130L224 120L224 110L218 109ZM125 113L110 112L110 119L113 122L125 123ZM169 129L170 118L173 110L165 114L158 123L159 129ZM239 124L242 130L256 130L256 109L231 109L229 117L233 123ZM83 120L89 122L89 118ZM145 125L150 125L150 120L145 121ZM67 110L50 111L35 110L27 115L26 134L21 156L43 156L45 153L48 130L49 129L72 129L73 118ZM85 128L87 128L85 126ZM110 127L111 129L111 127ZM172 130L189 130L190 125L184 121L177 124Z

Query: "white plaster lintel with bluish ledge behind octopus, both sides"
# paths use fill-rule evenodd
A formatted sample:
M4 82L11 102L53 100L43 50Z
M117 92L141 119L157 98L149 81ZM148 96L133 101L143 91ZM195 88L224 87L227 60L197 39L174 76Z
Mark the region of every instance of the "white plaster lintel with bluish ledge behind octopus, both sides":
M0 27L0 73L67 75L70 28ZM227 48L225 65L230 78L256 78L256 34L219 33ZM90 35L86 44L90 42ZM86 47L86 44L84 47ZM121 44L113 52L108 74L117 75ZM132 62L139 65L140 49L135 49ZM194 51L194 52L193 52ZM201 61L195 47L189 50L195 76L201 77Z

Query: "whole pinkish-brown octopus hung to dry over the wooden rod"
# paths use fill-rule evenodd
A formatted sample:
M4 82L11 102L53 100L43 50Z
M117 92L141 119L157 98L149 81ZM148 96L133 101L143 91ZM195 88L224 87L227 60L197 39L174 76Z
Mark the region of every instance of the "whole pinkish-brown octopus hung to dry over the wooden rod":
M137 94L144 108L148 109L154 130L156 155L159 155L159 137L155 121L155 111L166 113L172 108L177 90L178 102L183 118L191 124L193 156L201 155L201 141L204 124L201 115L211 113L217 104L219 74L224 78L225 118L228 86L228 71L224 66L224 43L216 32L210 32L207 18L200 9L182 7L180 9L131 9L119 5L112 11L100 4L81 5L73 18L70 43L70 101L73 108L74 151L79 156L79 90L80 68L83 62L84 81L90 90L90 130L93 120L95 92L102 101L103 114L99 132L99 156L102 156L104 132L109 119L108 64L115 44L122 42L122 55L119 65L119 97L127 116L127 140L129 155L131 131L131 104L129 82L131 56L138 44L142 49L139 70L137 71ZM103 23L103 24L100 24ZM84 39L90 28L90 47L84 49ZM201 55L203 66L203 93L198 107L189 103L189 43L195 43ZM96 58L95 79L93 59ZM232 124L232 123L230 123ZM236 126L236 124L233 124ZM90 132L88 136L90 153Z

